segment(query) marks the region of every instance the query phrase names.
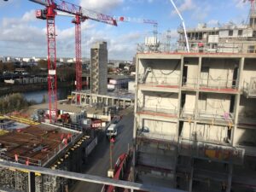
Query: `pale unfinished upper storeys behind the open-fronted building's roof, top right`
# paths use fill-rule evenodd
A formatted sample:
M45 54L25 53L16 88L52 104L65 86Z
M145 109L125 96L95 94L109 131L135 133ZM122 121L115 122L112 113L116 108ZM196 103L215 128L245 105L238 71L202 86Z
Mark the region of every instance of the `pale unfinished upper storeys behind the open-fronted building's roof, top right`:
M187 30L191 52L207 53L256 53L256 1L251 2L248 24L233 22L216 27L199 24ZM183 29L179 33L179 48L185 48Z

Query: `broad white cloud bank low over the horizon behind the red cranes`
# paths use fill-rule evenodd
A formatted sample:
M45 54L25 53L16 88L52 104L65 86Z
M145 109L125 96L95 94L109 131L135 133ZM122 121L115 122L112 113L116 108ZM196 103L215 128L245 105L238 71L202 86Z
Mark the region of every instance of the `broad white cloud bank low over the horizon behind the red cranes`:
M0 23L0 51L3 55L46 56L46 28L31 26L33 11L20 18L3 18ZM82 55L90 56L90 47L96 41L108 42L108 58L131 59L136 53L137 42L142 39L140 32L113 34L113 27L106 25L99 30L97 23L86 20L82 23ZM74 26L61 30L56 26L57 57L75 56Z

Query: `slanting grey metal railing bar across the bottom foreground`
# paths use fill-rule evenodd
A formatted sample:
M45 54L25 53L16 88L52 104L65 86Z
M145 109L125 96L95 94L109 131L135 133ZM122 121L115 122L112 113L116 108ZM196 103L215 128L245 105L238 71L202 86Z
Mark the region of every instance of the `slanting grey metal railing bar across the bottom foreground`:
M158 186L153 186L148 184L146 185L143 183L132 183L132 182L116 180L108 177L99 177L99 176L76 173L76 172L51 170L48 168L38 167L38 166L26 166L26 165L21 165L13 162L6 162L6 161L0 161L0 167L4 167L7 169L9 168L18 169L18 170L20 169L20 170L25 170L27 172L33 172L33 173L39 172L45 175L50 175L55 177L65 177L65 178L70 178L70 179L89 182L89 183L113 185L115 187L120 187L124 189L133 189L133 190L135 189L135 190L143 190L148 192L185 192L179 189L169 189L169 188L163 188L163 187L158 187Z

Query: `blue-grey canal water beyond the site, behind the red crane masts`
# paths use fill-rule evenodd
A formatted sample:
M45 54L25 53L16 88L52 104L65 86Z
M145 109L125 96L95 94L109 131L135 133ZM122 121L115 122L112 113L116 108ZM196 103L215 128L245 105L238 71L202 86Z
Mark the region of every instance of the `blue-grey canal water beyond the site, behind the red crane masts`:
M72 88L64 87L59 88L57 90L57 98L58 100L67 99L67 96L71 95ZM36 91L28 91L26 93L22 93L26 100L29 102L37 102L42 103L44 100L48 102L48 90L36 90Z

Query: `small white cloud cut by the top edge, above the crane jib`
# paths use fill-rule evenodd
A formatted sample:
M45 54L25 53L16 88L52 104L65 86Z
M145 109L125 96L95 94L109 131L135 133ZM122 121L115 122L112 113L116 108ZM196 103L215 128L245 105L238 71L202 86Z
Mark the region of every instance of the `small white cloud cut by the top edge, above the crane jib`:
M80 6L85 9L108 13L117 8L124 0L81 0Z

